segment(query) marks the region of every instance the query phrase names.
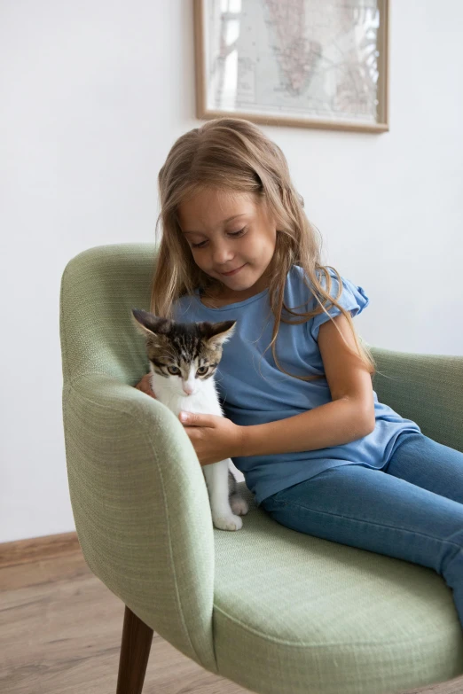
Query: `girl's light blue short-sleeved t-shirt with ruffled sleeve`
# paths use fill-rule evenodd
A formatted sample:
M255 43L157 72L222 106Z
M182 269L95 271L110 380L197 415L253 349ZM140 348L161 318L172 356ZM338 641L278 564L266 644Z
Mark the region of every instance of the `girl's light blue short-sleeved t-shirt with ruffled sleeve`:
M336 298L339 283L334 271L328 271L332 277L330 295ZM321 277L326 288L325 277ZM341 277L341 283L338 301L351 316L357 316L368 306L369 299L362 287L353 285L344 277ZM285 304L298 313L318 306L298 265L287 273ZM341 313L335 306L327 310L330 316ZM193 295L185 295L175 302L173 317L180 323L237 321L232 338L224 344L222 360L216 370L220 402L225 416L235 424L266 424L332 402L325 376L314 381L293 378L278 369L271 347L263 354L271 343L273 328L268 289L223 308L204 306L197 289ZM294 317L289 320L294 320ZM277 359L287 371L300 376L324 374L318 349L318 329L328 320L323 312L306 323L280 323L276 340ZM397 436L402 432L420 433L420 427L378 402L374 391L373 397L376 425L374 431L362 439L316 450L232 458L233 464L243 473L247 487L255 494L255 502L260 504L267 496L332 467L365 464L381 470L392 455Z

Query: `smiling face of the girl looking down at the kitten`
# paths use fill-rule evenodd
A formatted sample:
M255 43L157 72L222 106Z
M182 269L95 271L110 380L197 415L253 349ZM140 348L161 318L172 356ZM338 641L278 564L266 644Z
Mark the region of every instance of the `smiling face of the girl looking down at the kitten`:
M195 263L224 285L224 296L258 293L268 286L264 273L275 250L277 226L254 196L207 189L180 204L178 221Z

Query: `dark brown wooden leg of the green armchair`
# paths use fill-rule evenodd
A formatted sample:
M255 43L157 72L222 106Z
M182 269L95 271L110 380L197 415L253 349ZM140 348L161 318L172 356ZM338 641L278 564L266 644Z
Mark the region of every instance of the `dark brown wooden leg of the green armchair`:
M153 629L125 606L116 694L141 694L153 641Z

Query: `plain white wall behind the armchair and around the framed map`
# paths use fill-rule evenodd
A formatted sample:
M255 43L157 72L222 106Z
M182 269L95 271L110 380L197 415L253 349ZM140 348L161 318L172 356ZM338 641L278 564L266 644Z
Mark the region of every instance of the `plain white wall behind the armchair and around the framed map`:
M463 3L391 13L390 132L263 128L373 345L463 353ZM156 175L194 118L190 0L1 0L0 542L75 529L59 281L90 246L153 241Z

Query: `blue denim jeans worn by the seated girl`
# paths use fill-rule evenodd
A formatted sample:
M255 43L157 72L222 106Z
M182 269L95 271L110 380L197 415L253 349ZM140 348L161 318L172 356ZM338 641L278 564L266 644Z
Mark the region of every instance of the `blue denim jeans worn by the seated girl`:
M436 570L463 628L463 453L401 433L382 470L341 465L263 499L281 525Z

